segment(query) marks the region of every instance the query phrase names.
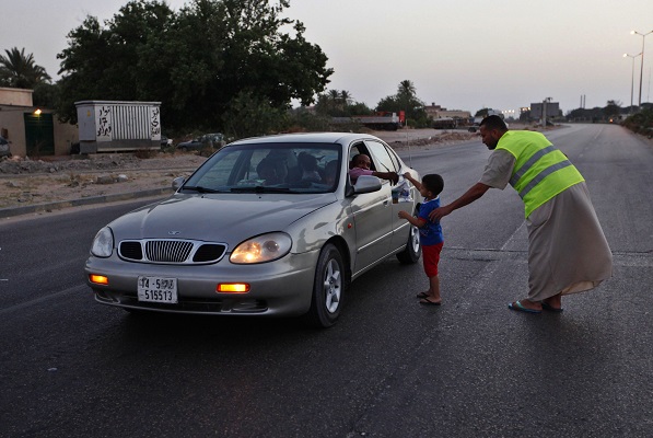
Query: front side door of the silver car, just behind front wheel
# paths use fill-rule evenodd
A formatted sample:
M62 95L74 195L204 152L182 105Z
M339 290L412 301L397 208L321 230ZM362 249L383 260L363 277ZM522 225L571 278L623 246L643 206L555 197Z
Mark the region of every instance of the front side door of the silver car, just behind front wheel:
M355 153L369 153L361 143L351 149L350 157ZM372 169L378 170L374 158ZM355 223L355 263L354 273L359 273L375 262L384 258L389 252L393 238L393 214L390 184L382 180L378 192L358 194L351 198L351 212Z

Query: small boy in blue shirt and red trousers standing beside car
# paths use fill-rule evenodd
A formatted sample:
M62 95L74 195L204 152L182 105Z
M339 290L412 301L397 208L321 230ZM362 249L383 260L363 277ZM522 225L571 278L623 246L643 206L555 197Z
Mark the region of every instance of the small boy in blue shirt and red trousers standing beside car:
M424 203L419 209L419 217L416 218L408 211L399 211L401 219L406 219L419 228L424 272L427 273L427 277L429 277L429 290L419 292L417 298L421 298L419 301L420 304L440 306L442 298L440 297L438 264L440 263L440 252L444 244L444 237L442 235L440 221L432 222L429 219L429 212L440 207L439 195L444 188L444 180L435 173L424 175L421 183L415 180L410 173L405 173L404 177L410 181L424 197Z

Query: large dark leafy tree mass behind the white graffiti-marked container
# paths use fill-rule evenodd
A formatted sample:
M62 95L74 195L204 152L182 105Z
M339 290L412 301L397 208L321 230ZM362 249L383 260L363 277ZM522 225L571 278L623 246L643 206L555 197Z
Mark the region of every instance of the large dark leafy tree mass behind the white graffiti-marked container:
M160 101L164 126L213 130L237 125L226 123L234 104L241 116L253 107L285 111L293 100L310 104L333 70L319 46L305 41L303 24L281 16L288 7L191 0L175 13L163 2L133 0L105 26L89 16L58 55L62 110L74 122L79 100Z

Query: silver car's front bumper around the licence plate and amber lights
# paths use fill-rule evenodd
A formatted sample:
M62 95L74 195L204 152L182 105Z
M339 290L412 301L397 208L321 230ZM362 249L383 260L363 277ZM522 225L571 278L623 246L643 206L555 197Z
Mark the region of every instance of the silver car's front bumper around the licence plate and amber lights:
M226 260L212 265L178 266L129 263L116 255L91 256L86 283L103 304L167 313L296 316L311 307L318 251L288 254L269 263L234 265ZM102 275L107 285L92 283ZM139 276L177 279L177 303L139 301ZM246 283L246 293L217 292L218 284Z

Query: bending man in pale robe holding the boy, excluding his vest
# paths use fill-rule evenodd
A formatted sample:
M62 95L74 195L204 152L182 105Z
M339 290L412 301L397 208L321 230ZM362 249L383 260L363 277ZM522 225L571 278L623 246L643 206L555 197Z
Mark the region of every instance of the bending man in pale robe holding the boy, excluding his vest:
M500 117L483 119L480 135L493 152L480 181L453 203L433 210L432 220L440 220L475 201L489 188L505 188L514 176L517 161L513 153L495 149L505 132L508 127ZM547 180L539 184L547 184ZM563 295L593 289L611 276L613 255L584 181L564 188L527 214L526 228L528 297L510 303L510 309L528 313L560 312Z

